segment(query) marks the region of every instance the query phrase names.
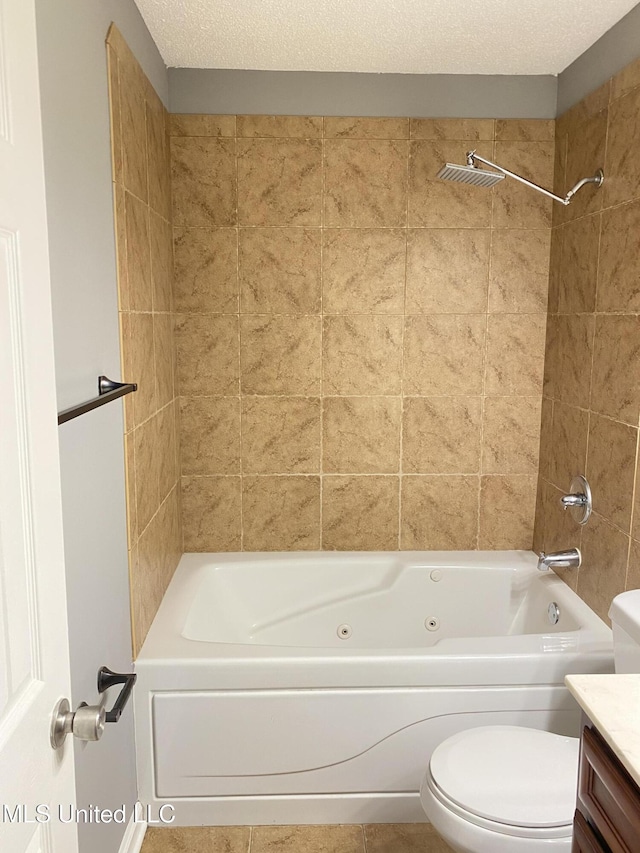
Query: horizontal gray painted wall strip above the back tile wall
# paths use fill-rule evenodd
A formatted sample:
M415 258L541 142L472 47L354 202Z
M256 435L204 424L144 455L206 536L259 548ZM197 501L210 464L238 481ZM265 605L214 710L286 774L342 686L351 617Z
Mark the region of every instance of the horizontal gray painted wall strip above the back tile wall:
M555 118L549 76L169 69L174 113Z

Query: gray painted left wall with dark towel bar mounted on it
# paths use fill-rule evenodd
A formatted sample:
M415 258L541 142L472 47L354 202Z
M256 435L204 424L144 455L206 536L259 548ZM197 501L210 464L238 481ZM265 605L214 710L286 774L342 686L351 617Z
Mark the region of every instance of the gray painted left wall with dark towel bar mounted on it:
M115 21L165 103L166 69L133 0L36 0L58 408L120 378L105 36ZM72 707L96 673L131 667L122 404L60 427ZM113 698L113 697L112 697ZM77 801L136 799L132 708L76 741ZM80 824L81 853L117 853L118 824Z

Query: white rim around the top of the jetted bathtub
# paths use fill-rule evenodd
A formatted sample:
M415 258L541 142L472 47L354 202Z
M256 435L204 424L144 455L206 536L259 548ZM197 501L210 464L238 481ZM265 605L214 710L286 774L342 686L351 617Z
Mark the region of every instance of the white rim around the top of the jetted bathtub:
M158 613L151 625L147 638L136 660L136 669L140 672L156 671L167 668L174 669L177 665L184 668L185 673L195 670L216 672L222 676L225 688L237 687L242 689L255 686L249 675L250 671L260 669L264 674L264 684L269 687L299 686L374 686L380 684L379 679L367 676L365 671L368 664L374 664L378 670L386 671L385 684L413 685L424 683L424 672L419 673L426 660L433 665L436 675L441 671L437 682L451 684L455 679L446 676L447 664L458 661L472 665L479 659L499 659L505 667L504 683L531 683L526 680L523 672L518 674L518 666L525 670L535 668L535 661L541 657L548 663L552 659L559 669L566 672L574 669L571 664L572 656L583 660L585 657L599 661L595 663L595 671L608 671L613 659L611 629L578 597L578 595L553 572L541 576L536 569L536 555L531 551L402 551L402 552L337 552L340 559L356 557L373 557L378 559L395 559L406 563L419 562L425 568L448 568L452 566L475 565L490 568L515 568L526 575L545 583L553 593L555 600L561 606L569 606L576 613L576 618L582 627L578 631L566 634L522 634L508 637L509 653L497 648L504 637L496 638L464 638L462 641L445 641L448 646L442 648L436 645L431 648L393 648L393 649L350 649L327 647L294 647L268 646L262 644L215 643L201 640L191 640L182 636L182 627L186 614L191 605L193 595L200 583L201 573L212 563L242 564L247 561L275 561L313 558L330 560L336 558L336 552L302 551L302 552L231 552L231 553L186 553L180 560L178 568L165 593ZM564 642L565 650L558 647ZM475 651L470 653L469 645ZM300 677L301 670L307 668L314 671L320 681L314 677ZM393 673L393 668L398 668ZM552 667L553 669L553 667ZM234 673L231 670L235 671ZM508 672L507 672L508 671ZM584 671L578 668L575 671ZM587 671L592 671L589 668ZM381 672L378 672L380 675ZM174 673L175 676L175 673ZM563 676L562 676L563 677ZM355 683L349 678L355 678ZM479 679L479 680L478 680ZM154 682L156 678L152 679ZM160 679L158 679L160 680ZM178 679L182 686L194 684L194 678L188 676ZM559 683L562 678L543 676L536 683ZM259 678L262 681L262 678ZM166 683L166 682L165 682ZM216 682L218 683L218 682ZM468 682L465 682L468 683ZM487 684L485 677L479 673L470 683ZM495 682L493 682L495 683ZM193 688L192 688L193 689Z

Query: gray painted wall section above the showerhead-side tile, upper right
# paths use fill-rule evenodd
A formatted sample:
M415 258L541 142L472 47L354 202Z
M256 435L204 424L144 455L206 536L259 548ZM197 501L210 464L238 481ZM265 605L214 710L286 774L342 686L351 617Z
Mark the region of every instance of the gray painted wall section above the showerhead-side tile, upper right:
M558 76L558 115L640 56L640 4Z

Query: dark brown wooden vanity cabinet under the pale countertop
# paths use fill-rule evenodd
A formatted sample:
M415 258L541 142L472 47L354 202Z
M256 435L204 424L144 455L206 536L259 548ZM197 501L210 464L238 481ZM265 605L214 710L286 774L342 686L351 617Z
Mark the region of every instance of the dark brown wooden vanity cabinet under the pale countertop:
M572 853L640 853L640 788L589 726L580 744Z

